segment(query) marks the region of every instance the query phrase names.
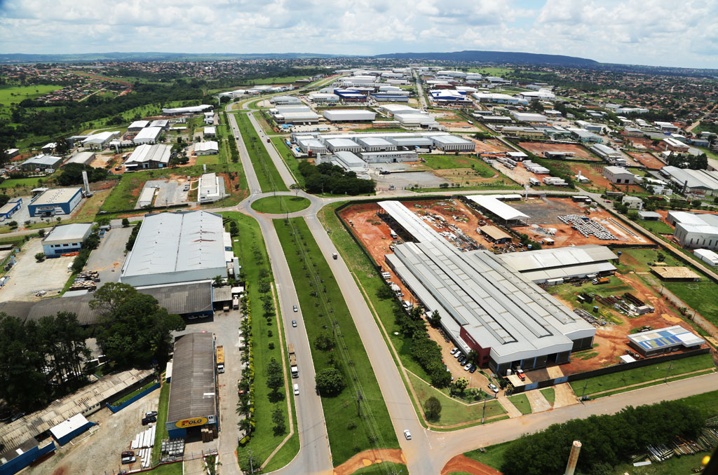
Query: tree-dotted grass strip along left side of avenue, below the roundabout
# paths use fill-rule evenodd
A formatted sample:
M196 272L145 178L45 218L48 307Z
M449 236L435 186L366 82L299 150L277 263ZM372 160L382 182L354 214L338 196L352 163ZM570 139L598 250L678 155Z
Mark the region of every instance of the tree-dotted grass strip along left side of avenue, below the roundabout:
M269 271L271 278L271 269L269 268L269 257L266 253L264 238L258 223L252 218L239 212L223 212L225 218L235 220L239 227L239 235L233 237L233 248L235 255L240 257L242 271L246 275L246 281L250 283L247 286L249 301L253 302L252 313L252 356L255 362L255 377L253 387L254 396L254 417L256 420L256 428L252 433L250 441L244 447L238 449L240 465L244 466L248 460L248 451L252 451L253 463L259 466L264 463L269 454L279 446L284 440L286 434L289 433L289 416L286 414L286 394L284 390L280 390L279 394L274 394L266 385L266 364L271 358L276 358L278 362L285 359L287 362L287 370L289 370L289 359L284 351L284 345L279 343L279 332L282 329L276 327L276 316L272 316L272 324L267 325L266 319L262 315L261 293L259 286L253 285L259 281L260 272L263 269ZM271 337L269 336L271 331ZM285 341L286 342L286 341ZM269 349L269 344L274 345L274 349ZM286 378L289 375L285 375ZM236 390L236 387L233 386ZM279 405L284 411L284 423L286 432L274 435L274 423L272 422L272 410ZM294 408L294 398L292 398L292 408ZM292 409L294 410L294 409ZM299 434L295 431L294 436L288 442L289 448L283 448L277 456L281 454L281 459L277 459L277 463L283 460L281 466L287 464L294 455L299 451ZM275 456L276 458L276 456ZM273 458L273 461L275 459ZM248 466L248 464L247 464ZM279 468L279 467L278 467Z

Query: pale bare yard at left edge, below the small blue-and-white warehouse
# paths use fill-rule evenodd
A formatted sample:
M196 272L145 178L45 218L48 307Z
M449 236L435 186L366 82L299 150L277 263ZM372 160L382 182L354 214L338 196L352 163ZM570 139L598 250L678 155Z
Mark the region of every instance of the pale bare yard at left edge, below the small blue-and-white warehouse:
M34 237L17 255L17 264L9 271L9 280L0 290L1 300L34 301L39 299L35 296L37 291L47 291L50 296L65 287L70 278L67 265L75 258L46 259L38 263L34 257L37 253L42 253L42 240Z

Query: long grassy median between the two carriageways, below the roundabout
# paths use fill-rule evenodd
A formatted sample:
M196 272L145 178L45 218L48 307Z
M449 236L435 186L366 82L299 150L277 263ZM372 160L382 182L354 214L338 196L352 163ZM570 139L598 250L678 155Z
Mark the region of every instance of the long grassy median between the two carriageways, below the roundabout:
M309 341L313 342L318 335L332 326L332 321L336 321L337 334L341 334L341 342L345 344L343 352L338 348L334 352L317 349L312 351L314 369L317 372L332 366L332 361L335 361L348 384L339 395L322 398L333 464L338 466L355 453L368 448L398 448L393 424L352 316L327 261L309 232L307 223L302 218L274 220L274 227L294 281L307 283L309 278L317 286L323 286L317 289L312 285L297 286L299 304L304 309L304 315L308 316L312 312L312 318L304 319ZM292 234L293 229L297 230L298 235ZM307 261L311 262L306 270L303 268L302 252ZM329 312L331 317L327 315ZM331 335L331 331L328 333ZM351 366L342 353L350 359ZM360 386L363 395L363 415L360 418L354 413L355 391L353 382L348 380L352 374L355 374L356 384ZM368 410L372 414L370 418L367 418ZM350 423L356 427L349 428L352 426Z

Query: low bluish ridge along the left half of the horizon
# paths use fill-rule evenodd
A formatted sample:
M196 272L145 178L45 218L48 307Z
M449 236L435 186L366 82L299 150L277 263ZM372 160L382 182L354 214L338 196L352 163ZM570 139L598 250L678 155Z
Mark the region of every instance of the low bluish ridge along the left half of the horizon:
M261 60L261 59L302 59L308 57L337 57L318 53L164 53L164 52L109 52L81 53L77 55L26 55L24 53L0 53L0 63L22 62L94 62L94 61L220 61L220 60Z

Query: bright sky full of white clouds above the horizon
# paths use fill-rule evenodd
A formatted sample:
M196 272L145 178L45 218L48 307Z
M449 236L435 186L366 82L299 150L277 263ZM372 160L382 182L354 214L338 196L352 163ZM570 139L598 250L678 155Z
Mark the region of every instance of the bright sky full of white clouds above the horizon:
M0 0L0 52L495 50L718 68L718 0Z

